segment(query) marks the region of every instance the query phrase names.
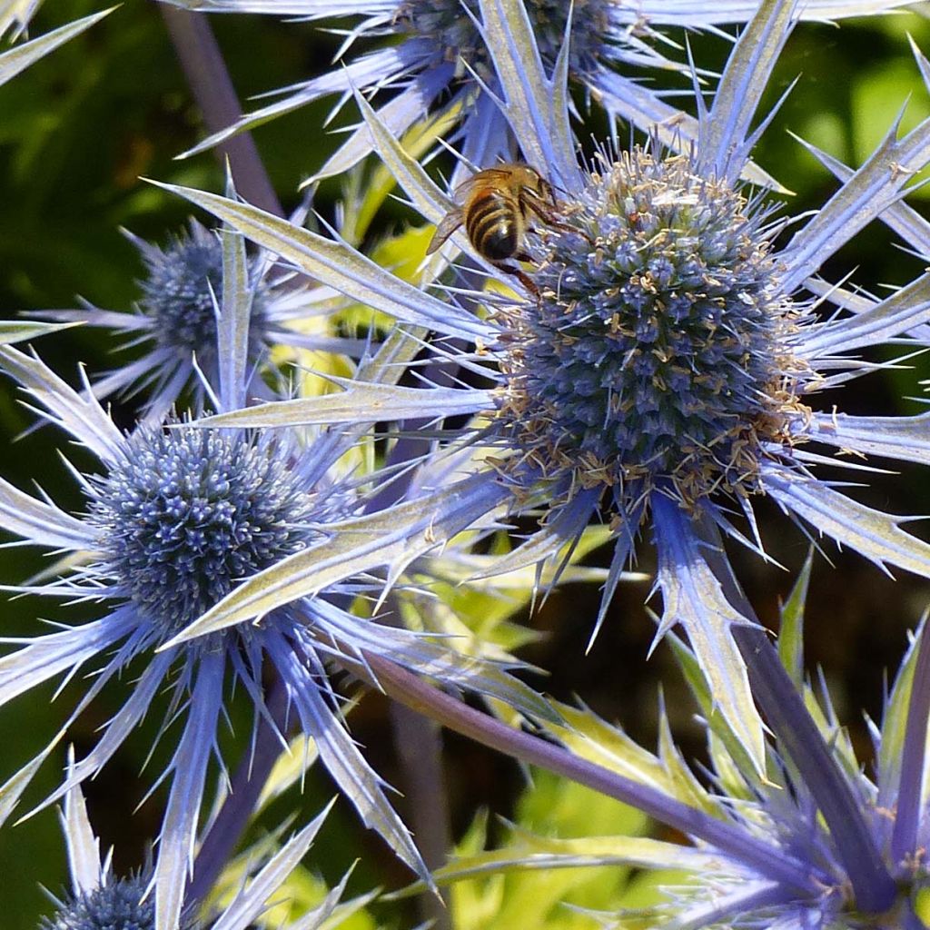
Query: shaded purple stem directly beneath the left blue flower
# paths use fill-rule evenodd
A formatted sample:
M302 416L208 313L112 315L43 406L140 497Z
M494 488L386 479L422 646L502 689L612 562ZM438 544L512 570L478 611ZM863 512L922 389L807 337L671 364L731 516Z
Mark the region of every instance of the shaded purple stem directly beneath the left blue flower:
M186 910L196 907L233 856L249 818L255 813L261 790L281 754L280 734L286 727L287 694L280 679L273 685L266 706L274 725L259 717L252 751L239 763L230 792L197 853L193 878L185 893Z

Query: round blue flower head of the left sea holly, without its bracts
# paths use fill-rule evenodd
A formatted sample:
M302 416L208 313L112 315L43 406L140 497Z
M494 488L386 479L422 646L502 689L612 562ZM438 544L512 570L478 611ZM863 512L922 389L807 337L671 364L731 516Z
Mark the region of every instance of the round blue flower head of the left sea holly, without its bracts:
M123 451L90 485L95 571L165 642L325 521L291 469L293 450L267 437L143 425Z

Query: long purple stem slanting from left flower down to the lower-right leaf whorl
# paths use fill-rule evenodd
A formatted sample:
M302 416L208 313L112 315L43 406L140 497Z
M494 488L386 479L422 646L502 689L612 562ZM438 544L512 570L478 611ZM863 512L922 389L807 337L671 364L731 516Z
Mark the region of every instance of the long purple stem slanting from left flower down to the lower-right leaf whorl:
M389 659L365 653L365 661L390 697L449 729L521 762L540 765L556 775L571 778L624 804L631 804L659 822L697 837L728 857L751 865L766 878L782 883L804 897L819 894L817 874L809 864L788 856L776 846L757 840L746 830L581 759L545 739L501 724L494 717L475 711L455 697L420 681L415 674Z

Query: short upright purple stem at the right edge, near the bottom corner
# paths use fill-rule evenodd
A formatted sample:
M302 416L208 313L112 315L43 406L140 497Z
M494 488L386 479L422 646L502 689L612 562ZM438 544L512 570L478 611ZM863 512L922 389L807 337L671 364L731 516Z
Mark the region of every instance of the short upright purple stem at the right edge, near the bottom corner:
M891 859L900 862L916 853L921 817L923 760L926 755L927 718L930 716L930 637L923 618L917 644L917 661L910 684L908 723L901 752L901 777L897 786L897 817L891 834Z

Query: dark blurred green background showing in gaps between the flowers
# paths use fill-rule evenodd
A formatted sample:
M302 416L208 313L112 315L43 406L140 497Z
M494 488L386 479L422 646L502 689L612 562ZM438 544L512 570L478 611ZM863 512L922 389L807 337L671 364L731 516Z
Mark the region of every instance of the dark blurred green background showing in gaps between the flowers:
M57 0L33 20L32 33L44 33L96 8L100 6L89 0ZM211 22L243 98L326 70L339 43L338 37L308 24L248 16L215 17ZM909 95L905 128L926 115L930 103L910 56L907 33L930 53L930 27L919 13L848 22L841 29L805 25L792 37L770 88L770 102L777 100L797 74L802 74L802 81L766 134L758 161L794 192L791 208L795 212L816 208L835 185L786 129L847 164L858 164ZM726 46L719 38L692 36L690 41L702 65L713 67L723 60ZM305 108L260 127L255 134L286 206L297 203L299 181L335 147L336 139L320 128L328 106L324 101ZM341 122L345 121L343 117ZM199 116L168 43L158 5L153 2L129 0L94 29L0 88L3 316L72 307L76 295L101 307L127 308L137 297L134 281L142 269L119 227L164 242L186 219L183 204L147 186L140 176L221 189L219 165L210 153L189 161L173 160L198 138ZM324 187L317 201L324 215L332 216L338 196L338 183ZM915 203L925 205L927 196L930 193L918 193ZM397 232L403 222L401 207L389 201L369 238ZM884 245L888 237L883 229L871 233L859 237L855 249L847 249L831 262L834 278L858 268L857 281L878 290L884 283L905 281L909 272L920 266L905 252L889 250ZM53 367L69 379L75 375L77 362L86 363L91 372L113 365L114 347L113 339L90 330L60 334L39 346ZM901 412L916 412L914 402L900 398L920 390L917 380L930 377L930 365L923 359L911 365L910 370L889 373L881 383L869 379L868 384L847 389L844 407L857 413L889 413L897 405ZM123 425L132 422L133 412L131 401L114 405L114 416ZM21 487L41 481L53 498L76 509L80 499L54 453L60 437L46 428L12 444L13 437L30 422L30 415L18 405L9 386L0 384L0 431L6 437L0 472ZM74 450L73 459L84 462L80 450ZM891 512L930 512L930 493L916 474L916 470L905 470L899 479L878 481L878 489L870 492L872 499ZM869 494L864 497L869 498ZM763 524L764 538L771 551L797 570L804 561L806 540L786 529L784 522L778 521L773 529L767 529L768 525L767 521ZM774 618L778 597L790 590L790 573L744 559L740 553L735 556L745 562L739 570L748 579L747 587L761 616ZM923 609L926 590L907 578L897 583L883 578L856 556L830 551L830 557L835 570L820 560L815 573L808 607L807 652L814 662L824 664L831 684L839 688L841 707L842 695L849 696L845 702L848 723L855 727L859 707L878 711L881 670L897 662L904 631ZM26 578L42 565L33 553L19 549L0 551L0 559L7 582ZM648 570L650 565L643 567ZM584 648L596 591L576 588L556 593L527 621L545 635L524 655L551 671L548 681L536 684L563 699L580 695L596 711L608 718L617 717L633 735L647 741L655 732L657 682L661 679L674 711L674 731L684 739L686 750L695 754L700 751L697 730L690 720L690 707L674 699L680 685L671 671L671 660L659 649L645 662L654 630L644 612L645 593L644 586L621 592L613 616L587 657ZM34 631L36 609L28 599L4 604L0 634ZM49 608L46 611L51 617ZM54 618L64 615L76 620L92 613L92 606L82 606ZM128 681L124 684L131 686ZM66 689L58 703L51 701L51 688L41 694L32 692L0 712L0 777L7 777L27 755L41 748L65 716L73 690ZM112 692L107 697L113 702L109 711L105 700L99 702L93 714L83 717L75 728L79 751L84 748L82 741L89 743L120 699ZM366 699L352 727L379 771L393 780L384 710L382 701ZM246 718L239 722L243 725L238 732L246 733ZM134 817L126 816L142 801L169 751L160 746L140 777L157 722L147 723L149 729L130 742L128 757L121 754L108 774L87 788L92 817L104 845L118 844L116 862L120 869L142 861L145 843L157 825L160 793L143 804ZM861 731L854 732L864 745ZM454 828L459 836L482 805L514 815L522 784L516 766L458 737L447 740L447 750ZM33 802L40 799L41 790L49 790L55 782L52 766L46 769L30 795ZM312 780L304 811L314 812L330 793L324 777ZM526 801L520 808L530 823L544 819L538 804L537 797L536 802ZM338 805L315 848L320 869L330 880L354 857L363 857L353 879L357 891L379 883L396 886L405 882L400 867L360 830L343 805ZM48 907L39 883L57 891L65 882L60 831L51 812L0 832L0 876L4 903L0 923L6 930L35 927L39 913ZM500 924L498 930L507 927Z

